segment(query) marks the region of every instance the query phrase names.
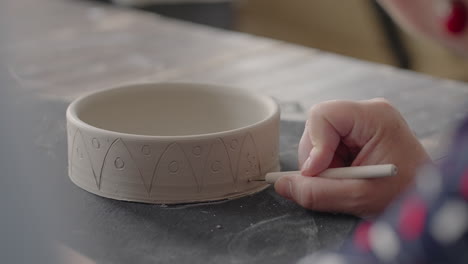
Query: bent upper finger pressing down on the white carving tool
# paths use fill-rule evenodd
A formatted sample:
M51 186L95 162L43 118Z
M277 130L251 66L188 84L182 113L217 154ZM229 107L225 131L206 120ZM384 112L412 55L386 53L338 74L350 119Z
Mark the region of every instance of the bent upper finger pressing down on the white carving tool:
M327 101L309 111L305 132L299 146L302 174L313 176L329 168L340 141L352 147L362 147L368 137L361 120L366 120L363 103ZM367 133L372 135L369 127ZM304 161L304 152L309 151ZM302 160L301 160L302 159Z

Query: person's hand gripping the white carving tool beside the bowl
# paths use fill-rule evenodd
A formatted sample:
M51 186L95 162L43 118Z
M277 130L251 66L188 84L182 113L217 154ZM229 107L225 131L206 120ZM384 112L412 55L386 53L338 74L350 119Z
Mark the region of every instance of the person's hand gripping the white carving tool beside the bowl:
M299 143L302 175L280 178L276 191L303 207L369 217L382 212L429 156L386 100L328 101L310 109ZM327 168L395 164L396 177L313 177Z

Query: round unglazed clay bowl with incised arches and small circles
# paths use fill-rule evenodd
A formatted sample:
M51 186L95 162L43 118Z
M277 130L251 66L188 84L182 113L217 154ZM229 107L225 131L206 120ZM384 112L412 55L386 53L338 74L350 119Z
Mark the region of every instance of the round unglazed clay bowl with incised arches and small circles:
M100 196L147 203L231 199L279 170L273 99L208 84L128 85L67 110L70 179Z

